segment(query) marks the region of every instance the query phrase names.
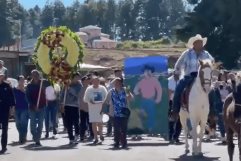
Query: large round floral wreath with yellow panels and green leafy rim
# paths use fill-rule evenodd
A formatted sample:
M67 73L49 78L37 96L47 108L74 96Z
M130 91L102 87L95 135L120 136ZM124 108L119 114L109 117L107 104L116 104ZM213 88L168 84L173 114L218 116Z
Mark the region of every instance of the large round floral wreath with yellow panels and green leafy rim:
M67 27L49 27L38 38L34 64L52 82L69 84L82 62L84 45Z

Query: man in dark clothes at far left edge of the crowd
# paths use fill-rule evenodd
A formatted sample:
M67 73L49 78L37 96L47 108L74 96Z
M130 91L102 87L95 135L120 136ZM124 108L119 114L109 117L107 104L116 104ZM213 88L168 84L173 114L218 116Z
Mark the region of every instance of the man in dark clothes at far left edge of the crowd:
M0 124L2 124L1 146L0 154L7 151L8 142L8 118L10 108L15 106L15 99L13 90L10 84L5 81L5 73L0 72Z

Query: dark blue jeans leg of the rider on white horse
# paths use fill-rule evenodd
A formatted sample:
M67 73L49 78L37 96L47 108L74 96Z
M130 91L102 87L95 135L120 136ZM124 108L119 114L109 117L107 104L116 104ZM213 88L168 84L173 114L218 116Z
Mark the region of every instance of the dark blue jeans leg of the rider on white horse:
M190 85L194 81L194 77L192 76L185 76L183 79L179 81L176 86L173 98L173 111L179 113L181 108L181 96L184 89Z

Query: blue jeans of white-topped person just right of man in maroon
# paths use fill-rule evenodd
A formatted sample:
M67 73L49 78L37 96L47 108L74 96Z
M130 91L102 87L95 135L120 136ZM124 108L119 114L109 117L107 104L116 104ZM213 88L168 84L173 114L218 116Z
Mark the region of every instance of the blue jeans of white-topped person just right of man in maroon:
M57 101L48 101L45 108L45 128L46 134L49 133L49 119L53 125L53 133L57 134Z

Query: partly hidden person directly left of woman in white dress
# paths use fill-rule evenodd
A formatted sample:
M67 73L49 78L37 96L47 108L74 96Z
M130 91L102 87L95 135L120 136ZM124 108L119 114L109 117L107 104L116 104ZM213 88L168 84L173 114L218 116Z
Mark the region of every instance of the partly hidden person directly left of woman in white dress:
M89 84L90 84L90 77L88 77L87 75L82 77L81 82L82 82L83 88L80 92L80 140L84 141L85 133L87 130L89 130L89 139L88 140L93 140L94 134L92 131L92 125L89 122L88 104L86 102L84 102L84 100L83 100L85 91L89 87Z

